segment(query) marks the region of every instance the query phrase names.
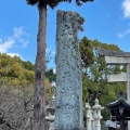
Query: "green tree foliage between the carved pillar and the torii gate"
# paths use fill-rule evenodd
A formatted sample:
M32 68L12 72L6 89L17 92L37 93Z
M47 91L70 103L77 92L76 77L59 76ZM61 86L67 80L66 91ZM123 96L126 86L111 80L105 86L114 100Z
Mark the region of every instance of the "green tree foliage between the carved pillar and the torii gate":
M81 41L83 40L84 38ZM80 46L81 60L82 61L87 60L86 72L83 69L83 76L82 76L83 101L84 102L90 101L90 103L93 103L92 100L94 100L95 96L98 96L100 99L101 105L105 106L106 104L114 102L117 99L117 95L119 94L120 91L123 91L126 93L127 90L127 84L125 82L108 83L107 75L126 72L126 66L106 65L105 58L99 56L98 48L100 47L106 50L115 50L115 51L121 51L121 50L115 44L106 44L98 40L89 40L89 39L87 40L91 46L88 46L86 42L82 43L88 49L82 49L83 46L82 44ZM88 53L86 52L87 50L89 50ZM104 115L104 119L107 119L109 113L106 108L103 110L103 115Z

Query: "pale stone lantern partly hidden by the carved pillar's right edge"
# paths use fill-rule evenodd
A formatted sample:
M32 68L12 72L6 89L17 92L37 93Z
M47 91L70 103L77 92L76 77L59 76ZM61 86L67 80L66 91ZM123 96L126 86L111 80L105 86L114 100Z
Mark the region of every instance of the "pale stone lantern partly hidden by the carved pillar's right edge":
M92 117L92 109L89 103L86 103L86 130L94 130L94 120Z

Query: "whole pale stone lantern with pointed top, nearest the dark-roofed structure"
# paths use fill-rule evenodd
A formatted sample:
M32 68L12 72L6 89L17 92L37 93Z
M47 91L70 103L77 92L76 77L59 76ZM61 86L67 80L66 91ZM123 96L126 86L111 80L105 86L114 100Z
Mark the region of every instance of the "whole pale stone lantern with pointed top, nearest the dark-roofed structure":
M93 119L94 119L94 130L101 130L101 110L104 109L104 107L102 107L99 104L99 100L95 99L95 105L92 106L93 109Z

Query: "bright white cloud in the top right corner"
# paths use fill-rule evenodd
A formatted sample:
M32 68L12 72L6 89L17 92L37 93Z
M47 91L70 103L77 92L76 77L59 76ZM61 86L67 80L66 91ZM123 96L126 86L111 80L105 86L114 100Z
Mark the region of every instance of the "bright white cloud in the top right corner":
M125 0L122 2L122 10L126 18L130 18L130 0Z

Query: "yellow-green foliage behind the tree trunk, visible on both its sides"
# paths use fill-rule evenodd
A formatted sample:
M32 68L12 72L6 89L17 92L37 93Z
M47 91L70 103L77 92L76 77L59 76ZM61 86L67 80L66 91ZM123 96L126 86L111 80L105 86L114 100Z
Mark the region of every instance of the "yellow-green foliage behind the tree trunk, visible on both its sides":
M34 69L35 65L29 61L22 61L18 56L11 57L6 54L0 54L0 86L17 89L24 87L26 90L32 89L35 81ZM52 69L48 70L47 74L46 99L50 100L52 95L50 81L55 80L55 75Z

